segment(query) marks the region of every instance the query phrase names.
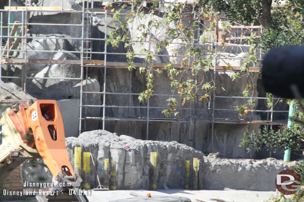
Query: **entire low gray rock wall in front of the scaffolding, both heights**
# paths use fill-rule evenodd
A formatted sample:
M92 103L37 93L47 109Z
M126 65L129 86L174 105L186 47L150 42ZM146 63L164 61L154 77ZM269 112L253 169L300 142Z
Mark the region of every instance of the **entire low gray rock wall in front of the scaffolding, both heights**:
M169 188L183 188L189 182L189 188L194 186L193 158L200 160L198 170L198 189L225 188L237 190L274 191L276 175L285 169L294 169L297 162L285 163L273 158L263 160L214 159L206 157L185 144L175 141L143 141L121 135L118 137L108 131L97 130L82 133L77 137L66 138L67 152L72 166L74 165L74 148L81 147L82 152L91 152L98 170L102 185L116 184L117 189L148 189L151 175L157 188L163 189L164 183ZM157 152L157 164L151 172L150 152ZM219 154L221 155L221 154ZM105 159L109 159L109 171L105 169ZM90 177L83 180L90 182L91 188L97 187L95 169L90 160ZM111 162L116 161L116 167ZM185 161L189 161L189 178L186 178ZM39 172L38 172L39 171ZM110 177L110 171L116 171L116 179ZM51 181L50 172L39 165L24 164L25 181L37 180L43 176Z

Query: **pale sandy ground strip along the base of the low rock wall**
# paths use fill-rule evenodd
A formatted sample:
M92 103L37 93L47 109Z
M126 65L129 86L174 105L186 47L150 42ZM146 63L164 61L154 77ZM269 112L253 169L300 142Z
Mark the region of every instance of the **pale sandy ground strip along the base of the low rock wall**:
M132 198L130 192L135 192L143 196L148 193L151 196L183 196L190 198L192 201L196 199L209 200L211 198L223 197L233 200L234 202L262 202L268 200L271 195L275 195L274 191L246 191L246 190L116 190L116 191L93 191L91 196L87 196L90 202L108 202L116 199Z

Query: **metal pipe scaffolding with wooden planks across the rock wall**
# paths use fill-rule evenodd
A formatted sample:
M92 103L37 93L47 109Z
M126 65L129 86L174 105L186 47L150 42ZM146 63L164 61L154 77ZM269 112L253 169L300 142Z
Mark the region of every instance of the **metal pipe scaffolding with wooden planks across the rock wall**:
M208 101L207 103L200 103L202 101L199 101L199 94L196 94L196 101L193 104L190 104L187 107L181 107L178 110L187 111L187 117L185 118L175 118L175 117L169 117L164 118L163 117L151 117L149 116L151 110L161 110L168 108L167 106L151 106L150 100L147 101L146 106L132 106L131 105L131 99L133 96L140 95L140 92L133 93L132 92L132 71L130 71L129 77L129 89L126 92L113 92L113 91L107 91L106 85L107 85L107 71L111 68L126 68L127 62L115 62L115 61L108 61L107 56L109 55L126 55L126 53L115 53L108 50L108 46L106 45L105 41L107 38L107 18L111 18L113 13L109 12L108 10L97 8L95 6L97 3L99 3L99 0L80 0L76 1L79 5L81 5L81 9L64 9L64 2L61 1L61 6L53 6L53 7L40 7L40 6L32 6L26 4L26 6L12 6L12 1L9 0L9 5L5 6L4 9L0 10L1 12L1 22L0 22L0 44L3 44L4 38L7 39L5 46L1 46L0 48L0 79L21 79L22 83L22 92L26 94L26 83L27 81L33 80L33 79L56 79L56 80L75 80L80 82L80 114L79 114L79 133L83 131L87 131L86 124L88 121L102 121L102 129L105 129L105 125L107 121L128 121L128 134L130 135L130 123L133 121L142 121L146 123L146 139L149 139L149 123L150 122L184 122L189 125L189 138L188 138L188 145L195 147L195 139L196 139L196 125L197 123L209 123L211 124L211 131L208 134L208 138L211 138L211 145L207 146L209 148L209 152L213 151L213 135L214 135L214 124L261 124L261 125L283 125L287 124L287 121L282 120L273 120L273 114L274 113L282 113L284 116L288 113L288 110L274 110L273 108L269 108L268 110L252 110L251 114L256 114L258 112L261 113L267 113L267 120L254 120L254 118L247 118L247 119L230 119L230 117L224 117L224 118L218 118L215 115L215 112L217 111L226 111L226 112L235 112L235 109L226 109L226 108L216 108L216 102L220 102L221 99L258 99L258 100L266 100L268 98L266 97L241 97L241 96L220 96L216 94L216 90L212 90L211 98L212 100ZM115 1L116 2L116 1ZM8 15L7 19L7 26L4 26L4 16L3 13L6 12ZM81 15L80 24L64 24L64 23L31 23L28 22L29 19L29 13L30 12L43 12L43 13L73 13L73 14L79 14ZM15 13L19 13L21 15L20 21L12 22L12 16ZM103 16L104 17L104 38L93 38L92 35L92 22L95 17L95 15ZM123 14L122 14L123 15ZM71 40L77 40L80 41L81 47L78 51L64 51L64 50L29 50L27 49L27 43L29 40L32 39L46 39L46 36L30 36L28 35L27 31L29 29L29 26L32 25L43 25L43 26L70 26L70 27L79 27L81 29L81 37L57 37L57 39L71 39ZM238 33L238 35L235 35L233 38L231 36L226 37L225 40L228 40L228 43L226 43L227 47L232 48L241 48L246 49L249 48L249 45L242 44L244 39L243 35L240 35L240 33L244 33L244 31L251 29L251 31L260 33L259 26L241 26L237 25L232 27L234 30L234 34ZM255 31L254 31L255 29ZM5 30L7 30L7 33L5 34ZM218 30L216 30L218 31ZM198 46L202 45L202 43L199 41L199 33L198 38L196 40L196 43ZM150 31L150 38L151 38L151 31ZM226 68L226 66L220 66L217 65L217 62L219 60L243 60L246 58L230 58L229 56L222 56L219 55L217 52L217 47L222 46L223 39L220 39L221 35L216 33L215 38L213 38L212 41L209 43L203 44L203 45L210 45L215 48L214 52L214 67L210 69L212 72L211 75L213 77L214 86L216 85L216 76L218 72L238 72L240 71L240 66L232 66L229 70ZM222 40L222 41L221 41ZM242 41L243 40L243 41ZM103 41L104 42L104 51L94 51L92 49L92 43L93 41ZM151 44L151 41L145 41L146 43ZM236 43L237 42L237 43ZM32 59L28 58L28 54L30 52L62 52L62 53L74 53L79 54L80 59L79 60L49 60L49 59ZM23 58L16 58L16 55L20 55L22 53ZM103 54L104 60L92 60L93 54ZM155 55L155 56L168 56L170 55ZM259 56L259 60L261 61L261 55ZM185 57L185 56L179 56L179 57ZM29 64L68 64L68 65L80 65L80 77L79 78L55 78L55 77L30 77L26 76L25 71L23 70L26 68ZM2 68L3 65L22 65L22 76L20 77L12 77L12 76L3 76L2 75ZM142 67L142 63L134 63L136 68ZM164 69L165 63L154 63L154 68L160 68ZM101 68L103 73L103 85L102 91L96 92L96 91L88 91L87 88L83 88L84 82L87 83L88 81L88 69L89 68ZM179 64L174 65L174 68L180 68ZM258 72L260 71L260 67L250 67L249 71L252 72ZM157 82L157 81L155 81ZM195 82L195 81L194 81ZM197 82L195 82L197 85ZM196 86L197 88L197 86ZM90 104L90 101L87 99L88 94L100 94L102 95L102 101L100 105L92 105ZM14 101L5 101L3 100L2 91L1 91L1 82L0 82L0 99L3 103L14 103ZM127 103L124 106L117 106L117 105L111 105L106 102L106 97L111 95L126 95L129 96L129 103ZM155 92L153 96L160 96L168 98L171 96L170 92L168 93L157 93ZM179 96L178 94L174 94L173 96ZM25 99L25 98L24 98ZM279 99L279 98L273 98L273 99ZM19 102L20 100L16 100L16 102ZM202 105L201 107L199 105ZM206 105L205 107L203 105ZM101 117L89 117L87 116L87 111L90 108L100 108L102 110L102 116ZM129 116L127 117L108 117L106 114L107 108L127 108L129 111ZM147 116L145 117L131 117L130 116L130 109L143 109L145 110ZM198 110L200 108L204 108L206 112L208 112L209 116L207 118L199 117ZM253 117L253 116L252 116ZM171 134L170 139L171 141Z

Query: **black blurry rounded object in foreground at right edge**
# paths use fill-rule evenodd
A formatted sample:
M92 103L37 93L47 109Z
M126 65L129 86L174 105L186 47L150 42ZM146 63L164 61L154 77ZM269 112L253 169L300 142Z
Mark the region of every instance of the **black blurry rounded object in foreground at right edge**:
M263 61L262 81L268 92L284 98L295 98L292 87L296 86L299 96L303 98L304 46L271 50Z

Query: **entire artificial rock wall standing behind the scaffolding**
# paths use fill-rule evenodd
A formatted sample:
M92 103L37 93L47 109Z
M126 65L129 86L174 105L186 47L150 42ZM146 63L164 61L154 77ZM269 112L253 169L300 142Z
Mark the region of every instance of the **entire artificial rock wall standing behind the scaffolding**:
M60 0L42 0L39 1L38 6L54 6L61 5ZM12 5L15 6L15 5ZM64 9L78 9L80 5L72 0L64 1ZM161 17L158 17L161 20ZM150 16L144 15L142 20L136 19L133 25L129 25L130 35L135 36L137 30L135 29L138 23L148 23ZM14 15L13 20L19 20L20 15ZM81 15L78 13L53 13L53 12L29 12L28 22L32 23L70 23L80 24ZM93 32L92 37L104 38L105 34L109 35L109 32L116 27L113 18L110 15L107 17L107 33L105 33L105 18L102 15L94 15L93 18ZM186 22L185 22L186 23ZM168 28L174 26L168 25ZM165 34L158 30L151 30L152 34L160 40ZM200 33L201 35L203 33ZM79 60L79 53L73 53L71 51L80 50L80 40L68 39L81 36L80 27L75 26L44 26L44 25L32 25L28 28L28 35L32 37L44 36L45 39L33 38L29 39L26 49L27 58L30 59L51 59L51 60ZM197 36L199 37L199 36ZM67 38L67 39L65 39ZM174 41L179 42L179 41ZM93 51L104 51L104 41L93 41ZM144 43L143 47L138 43L135 43L132 47L134 51L139 51L142 48L147 48L147 43ZM171 55L174 51L172 45L165 50L163 54ZM25 47L23 47L25 48ZM152 45L152 49L156 48L156 45ZM181 54L183 54L183 48L181 48ZM202 47L203 48L203 47ZM242 47L225 47L219 45L217 51L222 55L226 55L230 58L243 58L246 48ZM39 51L54 51L54 52L38 52ZM67 52L56 52L56 51ZM119 44L118 48L113 48L112 45L107 46L108 52L126 53L123 43ZM16 55L16 58L23 58L24 53L20 52ZM138 56L134 59L134 62L143 62L144 55ZM92 59L103 60L103 54L92 54ZM165 63L168 57L155 56L154 62ZM172 59L172 58L171 58ZM107 55L107 61L126 62L124 55ZM241 60L218 60L218 65L240 66ZM28 77L54 77L54 78L79 78L81 75L81 67L79 65L45 65L45 64L27 64L27 65L2 65L3 76L28 76ZM212 76L210 73L206 73ZM191 76L191 75L189 75ZM199 74L201 78L202 73ZM145 79L139 74L138 70L128 71L124 68L108 68L106 72L106 85L104 84L104 70L102 68L88 68L88 80L83 82L83 89L85 91L97 91L97 92L129 92L140 93L145 90ZM131 88L130 88L131 78ZM155 93L170 94L170 80L164 75L154 74ZM257 78L257 77L255 77ZM255 79L256 81L256 79ZM68 79L27 79L26 80L26 92L21 92L21 88L24 88L21 79L2 79L1 99L16 100L16 99L79 99L80 98L80 81L68 80ZM216 95L222 96L242 96L242 91L246 87L247 78L242 76L237 81L232 81L230 72L217 72L216 73ZM204 92L199 90L198 94L202 95ZM263 95L259 95L263 97ZM139 102L137 95L105 95L106 105L116 106L147 106L147 103ZM154 96L150 98L150 106L152 107L168 107L166 101L168 96ZM179 100L179 99L178 99ZM101 94L85 94L83 96L83 104L88 105L101 105L103 96ZM234 110L235 106L245 104L245 99L237 98L216 98L215 108L218 109L231 109ZM260 104L260 103L259 103ZM263 105L260 104L260 109ZM191 120L194 116L194 104L186 103L181 106L178 104L180 114L177 118ZM183 108L191 108L192 110L185 110ZM161 113L162 109L150 109L149 114L144 108L106 108L105 117L113 118L143 118L149 115L150 118L164 118L164 114ZM263 108L264 109L264 108ZM64 112L63 112L64 113ZM87 117L102 117L103 111L101 108L93 107L83 110L82 114ZM264 114L261 114L264 115ZM197 117L203 119L211 118L211 111L207 109L206 103L200 103L197 111ZM239 119L237 111L215 111L215 118L221 119ZM251 115L247 117L253 120L260 120L260 115ZM102 121L86 121L82 124L84 131L91 131L102 128ZM193 146L193 142L188 140L194 139L195 133L195 149L209 153L212 148L212 152L220 152L221 156L227 157L241 157L249 158L249 154L244 147L239 147L239 141L247 129L257 132L260 125L249 124L214 124L214 134L211 135L211 124L198 122L196 125L196 131L194 132L194 119L189 122L149 122L148 134L146 131L147 123L144 121L105 121L105 129L110 132L116 132L117 134L124 134L134 137L136 139L146 139L148 135L149 140L161 140L161 141L177 141L179 143L188 144ZM77 137L75 133L75 137ZM212 143L213 139L213 143ZM255 157L253 152L252 158Z

